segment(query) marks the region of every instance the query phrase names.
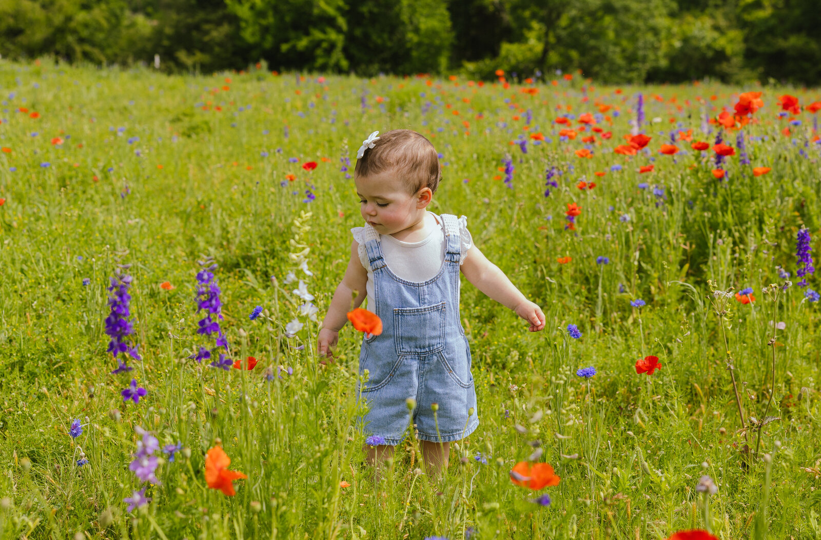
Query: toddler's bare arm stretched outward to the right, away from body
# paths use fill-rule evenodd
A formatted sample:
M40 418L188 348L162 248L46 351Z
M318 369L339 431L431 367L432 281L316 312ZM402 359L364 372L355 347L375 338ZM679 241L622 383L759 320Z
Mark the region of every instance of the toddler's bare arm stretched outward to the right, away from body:
M530 332L538 332L544 328L544 313L539 306L527 300L505 273L488 261L475 245L465 255L465 262L461 264L461 272L465 274L467 281L470 281L479 291L499 304L512 309L519 317L530 323Z

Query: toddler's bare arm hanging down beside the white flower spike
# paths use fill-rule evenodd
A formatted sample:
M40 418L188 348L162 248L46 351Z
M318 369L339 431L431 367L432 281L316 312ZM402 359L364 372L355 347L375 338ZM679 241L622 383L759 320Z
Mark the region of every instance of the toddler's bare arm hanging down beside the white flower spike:
M337 345L339 331L348 322L347 313L352 308L358 308L365 296L368 294L368 271L362 266L357 249L359 244L356 240L351 244L351 260L348 261L348 268L342 282L333 292L331 305L328 306L328 313L322 322L322 328L317 337L317 351L320 356L330 357L333 347ZM354 292L356 296L354 298ZM351 306L351 299L353 305Z

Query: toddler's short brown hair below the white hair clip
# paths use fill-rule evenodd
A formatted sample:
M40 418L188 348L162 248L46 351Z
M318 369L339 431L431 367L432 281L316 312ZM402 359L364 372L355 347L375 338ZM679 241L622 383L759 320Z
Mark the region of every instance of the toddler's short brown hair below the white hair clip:
M392 130L379 135L374 148L356 160L354 176L378 174L395 169L406 181L410 194L424 187L433 193L442 179L442 167L433 144L414 130Z

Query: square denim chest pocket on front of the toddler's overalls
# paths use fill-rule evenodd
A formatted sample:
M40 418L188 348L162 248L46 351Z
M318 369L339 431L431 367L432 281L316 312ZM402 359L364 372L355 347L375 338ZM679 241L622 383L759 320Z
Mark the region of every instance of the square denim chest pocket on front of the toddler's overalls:
M445 302L393 309L394 341L399 355L429 355L445 347Z

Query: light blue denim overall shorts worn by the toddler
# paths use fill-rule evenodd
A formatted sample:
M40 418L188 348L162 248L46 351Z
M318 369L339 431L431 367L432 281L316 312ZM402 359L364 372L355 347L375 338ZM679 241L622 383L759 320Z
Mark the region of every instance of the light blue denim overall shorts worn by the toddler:
M391 272L379 233L365 225L365 248L374 271L369 309L375 306L383 331L362 341L360 375L365 378L365 370L369 374L357 385L357 396L367 408L358 424L367 434L384 437L388 445L402 442L409 427L421 440L450 442L479 425L470 346L459 318L459 224L456 216L441 218L445 260L435 277L422 282L405 281ZM412 411L408 398L416 400Z

